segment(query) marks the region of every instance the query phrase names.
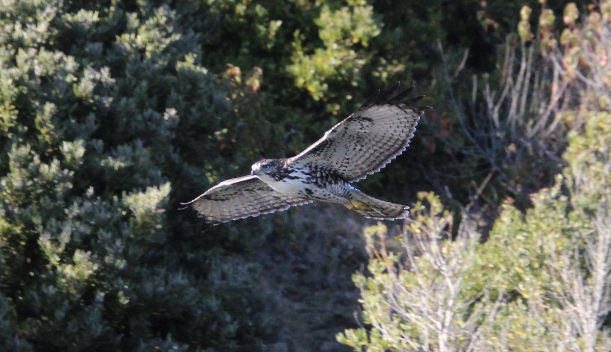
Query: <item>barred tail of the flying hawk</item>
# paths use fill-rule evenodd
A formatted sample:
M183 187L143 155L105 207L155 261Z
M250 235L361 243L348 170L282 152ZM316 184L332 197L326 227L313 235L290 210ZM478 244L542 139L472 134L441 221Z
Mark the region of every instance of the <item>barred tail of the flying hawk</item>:
M404 219L409 215L407 205L394 204L379 200L354 188L350 191L350 204L346 208L354 210L365 218L378 220Z

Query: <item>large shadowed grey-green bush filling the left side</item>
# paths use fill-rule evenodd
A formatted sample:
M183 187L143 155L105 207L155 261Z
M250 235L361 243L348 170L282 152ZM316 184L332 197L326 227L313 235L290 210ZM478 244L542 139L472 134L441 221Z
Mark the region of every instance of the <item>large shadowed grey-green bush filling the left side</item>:
M267 334L257 265L221 262L174 214L232 171L205 136L236 116L196 37L152 5L2 5L2 350L242 350Z

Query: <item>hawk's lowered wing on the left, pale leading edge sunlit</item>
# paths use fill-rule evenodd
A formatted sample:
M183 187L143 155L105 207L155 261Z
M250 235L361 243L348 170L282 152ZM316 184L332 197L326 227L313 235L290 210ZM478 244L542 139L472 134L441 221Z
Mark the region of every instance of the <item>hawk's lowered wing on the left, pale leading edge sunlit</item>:
M223 181L183 205L195 210L197 217L205 218L208 224L218 225L310 202L312 200L285 196L257 177L247 175Z

